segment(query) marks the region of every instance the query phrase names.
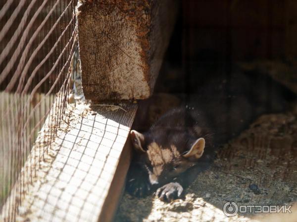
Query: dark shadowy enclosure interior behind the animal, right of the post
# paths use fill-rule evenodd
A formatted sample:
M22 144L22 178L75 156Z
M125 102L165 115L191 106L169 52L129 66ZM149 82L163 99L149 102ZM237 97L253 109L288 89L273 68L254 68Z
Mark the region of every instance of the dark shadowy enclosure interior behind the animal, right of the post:
M155 92L196 93L215 76L230 77L240 62L296 67L296 11L294 0L181 1Z

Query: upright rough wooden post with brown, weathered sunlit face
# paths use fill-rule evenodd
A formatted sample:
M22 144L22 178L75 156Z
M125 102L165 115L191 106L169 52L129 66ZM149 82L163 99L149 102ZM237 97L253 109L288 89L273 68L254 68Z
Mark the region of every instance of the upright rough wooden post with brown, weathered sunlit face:
M146 99L154 88L178 0L93 0L78 7L87 99Z

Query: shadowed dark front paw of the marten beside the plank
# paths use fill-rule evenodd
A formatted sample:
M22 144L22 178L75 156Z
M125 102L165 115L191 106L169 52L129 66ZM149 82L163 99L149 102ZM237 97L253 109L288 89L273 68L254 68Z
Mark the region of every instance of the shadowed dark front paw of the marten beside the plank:
M144 197L150 193L150 183L145 179L133 178L127 182L127 191L129 194L137 197Z

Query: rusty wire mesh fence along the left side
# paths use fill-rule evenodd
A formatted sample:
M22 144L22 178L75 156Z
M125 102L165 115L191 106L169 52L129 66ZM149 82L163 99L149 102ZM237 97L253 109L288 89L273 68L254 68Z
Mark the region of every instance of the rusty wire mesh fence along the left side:
M38 169L20 170L36 142L44 150L34 163L47 153L77 78L75 6L76 0L0 1L0 211L5 204L10 220L24 181ZM51 130L36 141L48 115Z

